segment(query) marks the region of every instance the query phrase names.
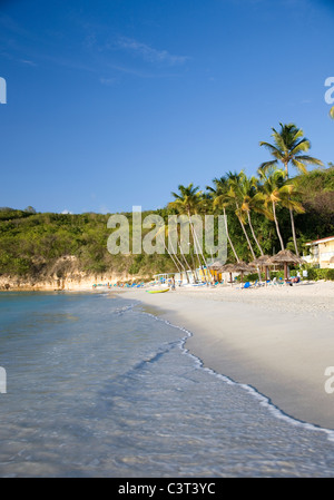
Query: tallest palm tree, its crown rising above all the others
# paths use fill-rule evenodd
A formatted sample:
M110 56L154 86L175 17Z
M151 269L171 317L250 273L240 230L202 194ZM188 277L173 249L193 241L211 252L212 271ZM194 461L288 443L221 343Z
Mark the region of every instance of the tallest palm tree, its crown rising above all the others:
M265 141L259 143L259 145L266 147L275 158L271 161L264 161L261 165L262 169L265 170L269 167L277 166L277 163L281 161L284 165L286 178L288 178L289 164L292 164L302 174L307 174L307 165L323 165L320 159L305 154L311 148L311 143L306 139L306 137L303 137L304 131L301 128L297 128L294 124L279 124L279 131L272 128L274 144ZM295 252L299 256L292 207L289 207L289 216Z

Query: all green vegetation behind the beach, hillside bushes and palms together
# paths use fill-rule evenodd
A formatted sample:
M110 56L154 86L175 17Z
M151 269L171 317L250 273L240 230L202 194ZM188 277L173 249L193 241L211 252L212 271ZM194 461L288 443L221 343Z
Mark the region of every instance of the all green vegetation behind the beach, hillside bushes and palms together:
M213 179L213 186L206 186L205 192L193 184L180 185L166 208L150 213L160 215L166 227L171 214L225 214L229 262L250 262L283 248L301 254L306 242L332 236L334 165L325 168L308 156L310 141L292 124L281 124L281 130L274 130L273 137L273 144L261 143L269 150L272 159L261 165L257 177L228 171ZM296 177L288 176L289 164L297 168ZM316 168L307 171L307 164ZM148 214L143 213L143 218ZM124 215L131 235L132 214ZM35 278L56 275L60 278L76 267L91 274L124 272L151 276L158 272L205 266L210 257L205 252L197 256L199 242L191 226L188 255L183 255L180 247L174 256L168 252L164 255L110 255L107 249L111 234L107 228L109 216L41 214L32 207L26 210L0 208L0 275ZM314 276L333 278L333 269L325 271L315 271Z

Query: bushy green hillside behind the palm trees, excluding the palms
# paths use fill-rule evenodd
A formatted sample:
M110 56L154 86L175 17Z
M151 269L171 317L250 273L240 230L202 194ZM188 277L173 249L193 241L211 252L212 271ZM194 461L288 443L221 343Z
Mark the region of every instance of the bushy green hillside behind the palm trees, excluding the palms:
M301 213L296 212L294 215L296 241L302 253L303 245L306 242L334 234L334 166L316 168L307 175L292 178L291 182L296 186L295 200L303 207ZM238 214L244 217L240 209L244 206L244 208L246 207L245 213L247 213L247 203L250 204L250 200L246 203L248 195L244 194L244 205L240 205L238 212L236 206L230 203L233 199L230 186L235 186L235 193L242 193L237 192L236 184L229 184L229 190L227 190L229 198L226 198L226 206L223 204L228 220L228 233L238 257L249 262L253 255ZM213 190L214 188L199 194L198 200L200 203L197 213L202 215L223 214L222 203L220 205L214 203ZM258 199L262 199L265 206L264 195L259 196ZM167 224L168 215L179 213L180 204L181 202L178 205L171 203L166 208L153 213L163 216ZM254 207L254 209L252 208L252 228L263 252L265 254L278 252L281 244L275 222L272 217L266 217L266 212L259 209L256 204L249 206ZM60 257L65 256L76 257L78 268L91 274L126 272L153 275L157 272L177 271L177 262L175 263L168 253L164 255L146 255L145 253L139 255L132 255L131 253L110 255L107 249L107 241L111 234L111 229L107 228L110 214L35 213L31 207L28 208L30 209L3 208L0 210L0 275L38 278L41 275L56 273L58 277L62 277L70 265L70 261L61 261ZM131 232L131 214L125 215L128 217ZM148 213L143 213L143 217L146 215ZM276 204L276 217L279 222L284 246L294 251L289 210L278 202ZM247 220L247 217L244 217L243 220L250 241L249 220ZM191 252L194 252L194 247ZM259 255L255 244L254 253L256 256ZM206 254L206 257L210 257L210 255ZM179 262L183 262L181 255L178 255L178 258ZM228 245L228 259L235 259L230 245ZM188 257L188 261L191 262L191 256Z

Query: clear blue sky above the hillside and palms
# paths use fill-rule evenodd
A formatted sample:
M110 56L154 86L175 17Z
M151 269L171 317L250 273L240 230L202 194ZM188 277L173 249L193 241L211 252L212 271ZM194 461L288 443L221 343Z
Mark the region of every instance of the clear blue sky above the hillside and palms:
M334 2L0 1L0 206L124 212L255 174L295 122L334 161Z

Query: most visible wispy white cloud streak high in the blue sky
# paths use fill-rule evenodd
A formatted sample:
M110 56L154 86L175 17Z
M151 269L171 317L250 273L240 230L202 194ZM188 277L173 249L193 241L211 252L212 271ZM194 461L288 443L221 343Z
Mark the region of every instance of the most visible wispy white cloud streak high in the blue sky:
M134 40L132 38L121 37L117 40L116 46L120 49L128 50L135 56L141 57L148 62L167 63L170 66L183 65L189 57L175 56L167 50L157 50L147 43Z

